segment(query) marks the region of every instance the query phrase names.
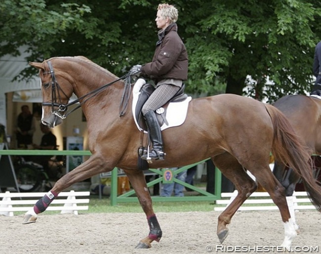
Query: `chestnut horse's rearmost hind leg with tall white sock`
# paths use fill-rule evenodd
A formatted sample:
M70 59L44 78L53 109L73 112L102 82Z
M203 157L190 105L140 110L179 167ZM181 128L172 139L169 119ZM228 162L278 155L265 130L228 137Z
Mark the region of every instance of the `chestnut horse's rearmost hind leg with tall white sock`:
M271 169L268 166L260 167L258 165L255 165L249 170L256 177L257 181L269 193L274 204L276 204L279 208L284 226L284 240L281 244L281 247L289 250L291 247L291 243L296 237L297 233L286 203L285 188L273 175Z

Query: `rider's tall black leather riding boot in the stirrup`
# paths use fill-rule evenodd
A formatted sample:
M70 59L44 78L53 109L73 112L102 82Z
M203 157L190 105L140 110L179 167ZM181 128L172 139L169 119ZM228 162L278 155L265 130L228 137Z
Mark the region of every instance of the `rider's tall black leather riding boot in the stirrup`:
M163 152L163 141L161 138L161 127L157 121L156 114L153 110L150 110L145 115L145 120L147 127L149 129L149 134L151 141L153 143L153 149L149 153L151 159L164 160L165 153ZM141 157L147 160L147 155Z

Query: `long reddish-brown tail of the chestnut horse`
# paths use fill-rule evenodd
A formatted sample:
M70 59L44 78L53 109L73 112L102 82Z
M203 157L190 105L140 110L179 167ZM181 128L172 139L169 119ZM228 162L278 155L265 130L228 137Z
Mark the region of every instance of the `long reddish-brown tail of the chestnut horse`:
M313 162L307 146L280 110L269 104L265 104L265 107L274 129L272 154L277 161L300 175L312 204L321 212L321 186L313 177Z

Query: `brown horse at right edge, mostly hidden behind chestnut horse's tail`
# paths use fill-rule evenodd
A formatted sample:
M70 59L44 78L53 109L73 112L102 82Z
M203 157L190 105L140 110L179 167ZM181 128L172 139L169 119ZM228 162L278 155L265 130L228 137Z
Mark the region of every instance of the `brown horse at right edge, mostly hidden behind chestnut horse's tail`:
M321 99L316 96L287 95L277 100L273 105L281 110L296 133L303 138L308 153L321 155ZM291 217L298 230L292 195L300 175L279 160L275 160L273 173L285 187Z

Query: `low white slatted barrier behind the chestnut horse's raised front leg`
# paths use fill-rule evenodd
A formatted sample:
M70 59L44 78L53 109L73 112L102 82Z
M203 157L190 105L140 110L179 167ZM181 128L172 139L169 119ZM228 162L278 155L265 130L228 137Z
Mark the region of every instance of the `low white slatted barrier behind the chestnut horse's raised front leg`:
M45 194L46 192L16 193L6 191L5 193L0 193L0 198L2 199L0 201L0 214L13 216L13 212L27 212L33 208L36 202ZM61 192L58 194L58 197L52 201L46 211L61 211L61 213L74 213L77 215L79 210L88 210L88 206L78 206L77 204L88 204L89 199L76 199L76 197L89 195L89 191L75 192L72 190L69 192ZM62 204L63 206L61 206Z

